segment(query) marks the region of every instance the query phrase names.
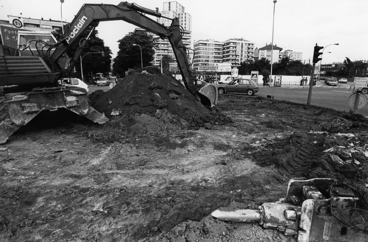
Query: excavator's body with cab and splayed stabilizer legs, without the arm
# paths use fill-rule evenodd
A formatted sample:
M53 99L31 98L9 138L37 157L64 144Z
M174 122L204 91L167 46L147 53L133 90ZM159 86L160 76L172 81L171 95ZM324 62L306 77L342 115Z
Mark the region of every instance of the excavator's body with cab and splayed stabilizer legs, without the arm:
M0 56L0 144L46 110L66 108L99 124L108 121L91 107L84 88L59 85L61 73L48 57L56 43L51 33L18 31L18 48ZM64 53L59 65L69 60Z

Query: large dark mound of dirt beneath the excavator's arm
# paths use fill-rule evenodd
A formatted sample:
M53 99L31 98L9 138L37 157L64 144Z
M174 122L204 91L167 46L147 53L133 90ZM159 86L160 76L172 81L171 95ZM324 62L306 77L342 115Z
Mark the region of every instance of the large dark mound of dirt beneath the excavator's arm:
M166 76L133 73L109 91L94 96L96 110L112 119L141 114L160 118L167 111L187 127L230 122L204 107L176 79Z

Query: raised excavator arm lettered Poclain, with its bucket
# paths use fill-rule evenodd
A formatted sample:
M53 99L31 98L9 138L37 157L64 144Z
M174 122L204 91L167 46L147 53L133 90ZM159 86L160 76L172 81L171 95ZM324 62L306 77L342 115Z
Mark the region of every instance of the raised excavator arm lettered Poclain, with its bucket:
M161 17L161 14L156 11L127 2L121 2L118 5L84 4L78 14L75 15L73 21L67 26L65 31L66 35L54 49L51 59L56 62L65 53L68 47L78 39L78 36L88 28L88 26L98 26L100 21L123 20L149 32L155 33L162 39L167 38L173 48L185 88L194 96L198 96L204 106L212 110L215 109L217 104L216 85L208 83L203 86L197 85L197 79L193 74L191 64L188 59L187 47L185 47L181 40L184 30L179 24L179 19L174 18L171 25L166 27L145 16L145 14ZM77 53L73 58L74 60L70 62L67 72L70 72L74 68L74 65L77 62L76 60L79 58L78 54L79 53Z

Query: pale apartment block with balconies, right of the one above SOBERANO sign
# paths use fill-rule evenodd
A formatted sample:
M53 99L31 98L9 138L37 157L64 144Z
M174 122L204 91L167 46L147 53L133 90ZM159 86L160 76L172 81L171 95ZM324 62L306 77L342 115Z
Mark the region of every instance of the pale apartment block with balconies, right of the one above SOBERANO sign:
M231 65L240 65L242 62L253 60L254 43L243 38L228 39L223 42L223 63Z

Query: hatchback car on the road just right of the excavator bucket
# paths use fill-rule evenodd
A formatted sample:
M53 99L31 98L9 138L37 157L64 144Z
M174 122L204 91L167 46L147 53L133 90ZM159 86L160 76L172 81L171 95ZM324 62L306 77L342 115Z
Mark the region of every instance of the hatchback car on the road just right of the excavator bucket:
M253 96L259 91L257 83L251 79L234 79L227 84L217 85L219 94L224 93L247 93L248 96Z

